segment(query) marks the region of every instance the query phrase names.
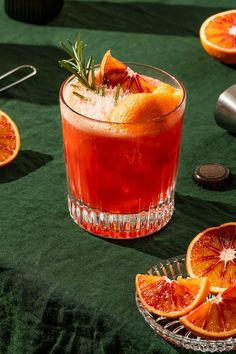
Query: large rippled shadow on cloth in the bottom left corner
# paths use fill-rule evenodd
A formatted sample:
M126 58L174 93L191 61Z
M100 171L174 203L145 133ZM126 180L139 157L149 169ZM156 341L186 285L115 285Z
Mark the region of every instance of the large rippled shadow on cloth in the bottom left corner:
M37 275L0 274L0 353L97 353L98 343L103 353L122 352L119 320L95 315L89 302L58 297L52 288Z

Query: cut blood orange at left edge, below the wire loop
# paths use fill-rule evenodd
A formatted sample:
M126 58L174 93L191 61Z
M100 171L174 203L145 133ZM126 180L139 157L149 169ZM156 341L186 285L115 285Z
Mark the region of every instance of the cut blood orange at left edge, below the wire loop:
M16 124L0 111L0 167L11 162L20 149L20 135Z

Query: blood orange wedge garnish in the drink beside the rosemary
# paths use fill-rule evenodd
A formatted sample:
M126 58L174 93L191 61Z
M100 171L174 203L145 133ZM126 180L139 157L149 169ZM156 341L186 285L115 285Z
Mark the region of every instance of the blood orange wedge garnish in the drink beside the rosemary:
M96 81L98 84L105 83L107 87L120 84L124 91L128 90L132 93L152 92L158 86L158 80L134 72L126 64L114 58L110 50L105 53L101 61Z

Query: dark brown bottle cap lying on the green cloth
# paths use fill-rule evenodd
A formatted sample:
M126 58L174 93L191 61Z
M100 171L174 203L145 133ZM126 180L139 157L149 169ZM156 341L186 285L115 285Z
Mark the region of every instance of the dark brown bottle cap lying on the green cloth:
M193 180L203 188L221 190L230 184L231 173L225 165L206 163L195 169Z

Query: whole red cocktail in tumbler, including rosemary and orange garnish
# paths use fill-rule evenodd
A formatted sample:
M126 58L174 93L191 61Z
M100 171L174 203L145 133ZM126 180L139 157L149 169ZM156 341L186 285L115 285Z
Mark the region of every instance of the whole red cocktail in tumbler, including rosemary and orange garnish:
M80 39L62 46L74 73L60 90L71 217L104 237L149 235L173 213L185 90L110 50L95 68Z

